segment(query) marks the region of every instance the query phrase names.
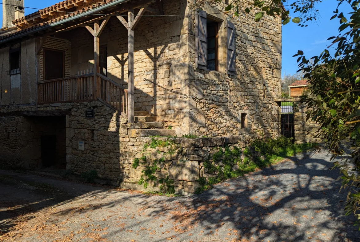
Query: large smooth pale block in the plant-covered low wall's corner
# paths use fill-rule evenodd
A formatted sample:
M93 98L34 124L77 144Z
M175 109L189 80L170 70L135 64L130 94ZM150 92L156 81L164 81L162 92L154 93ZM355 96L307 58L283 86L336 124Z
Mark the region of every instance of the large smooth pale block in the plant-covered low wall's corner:
M199 163L197 161L175 161L168 170L172 180L196 181L200 178Z

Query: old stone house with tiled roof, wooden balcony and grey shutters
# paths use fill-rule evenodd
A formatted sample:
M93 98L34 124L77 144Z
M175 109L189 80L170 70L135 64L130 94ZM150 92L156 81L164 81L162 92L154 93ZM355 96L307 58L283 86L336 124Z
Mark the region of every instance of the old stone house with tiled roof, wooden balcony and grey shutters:
M227 1L66 0L26 16L3 3L0 162L133 188L149 136L279 134L280 17Z

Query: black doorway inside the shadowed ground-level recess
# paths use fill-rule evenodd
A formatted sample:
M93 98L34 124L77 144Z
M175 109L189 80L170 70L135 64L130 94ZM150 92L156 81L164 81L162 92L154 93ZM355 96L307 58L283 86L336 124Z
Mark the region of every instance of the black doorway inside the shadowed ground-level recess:
M51 167L56 164L56 135L41 136L42 167Z

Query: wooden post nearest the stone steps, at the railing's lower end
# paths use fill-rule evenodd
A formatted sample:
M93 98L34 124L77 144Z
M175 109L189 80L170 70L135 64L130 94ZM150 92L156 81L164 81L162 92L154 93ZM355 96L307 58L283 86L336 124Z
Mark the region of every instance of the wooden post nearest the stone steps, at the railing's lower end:
M129 9L128 12L128 32L127 32L127 82L129 89L129 107L128 107L128 122L134 123L134 9Z

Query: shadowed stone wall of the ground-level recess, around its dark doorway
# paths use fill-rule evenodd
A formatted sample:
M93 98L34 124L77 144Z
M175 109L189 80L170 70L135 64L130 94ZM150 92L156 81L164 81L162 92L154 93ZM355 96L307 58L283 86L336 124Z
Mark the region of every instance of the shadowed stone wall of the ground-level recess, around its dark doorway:
M65 117L0 117L0 163L40 168L41 136L56 136L54 165L66 164Z

